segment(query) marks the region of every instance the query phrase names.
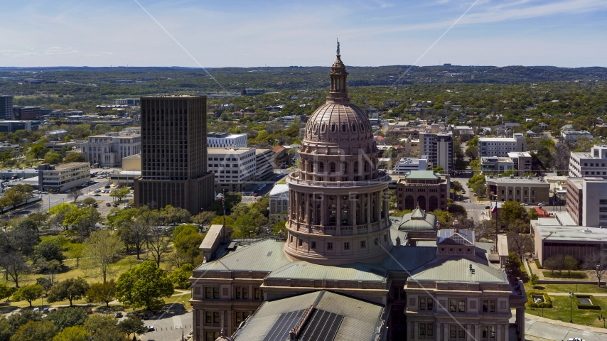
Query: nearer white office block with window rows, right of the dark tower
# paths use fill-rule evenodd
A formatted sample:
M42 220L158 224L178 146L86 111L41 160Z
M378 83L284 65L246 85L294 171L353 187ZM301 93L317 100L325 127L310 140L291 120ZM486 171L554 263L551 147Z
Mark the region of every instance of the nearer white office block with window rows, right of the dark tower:
M242 192L255 180L255 148L207 148L208 170L215 173L215 191Z

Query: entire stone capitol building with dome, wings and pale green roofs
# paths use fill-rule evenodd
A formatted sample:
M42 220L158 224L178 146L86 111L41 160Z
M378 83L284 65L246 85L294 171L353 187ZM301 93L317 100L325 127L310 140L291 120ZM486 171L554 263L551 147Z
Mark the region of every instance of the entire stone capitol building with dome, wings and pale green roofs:
M457 221L437 229L419 207L390 217L390 176L339 50L329 76L286 180L286 234L245 241L213 225L200 245L193 340L525 340L505 236L495 248Z

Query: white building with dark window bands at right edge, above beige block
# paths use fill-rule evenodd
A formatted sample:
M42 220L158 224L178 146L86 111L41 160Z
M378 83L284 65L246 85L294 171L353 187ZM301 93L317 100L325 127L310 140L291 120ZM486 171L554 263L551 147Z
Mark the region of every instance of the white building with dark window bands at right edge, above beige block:
M571 152L569 176L607 178L607 145L595 145L590 152Z

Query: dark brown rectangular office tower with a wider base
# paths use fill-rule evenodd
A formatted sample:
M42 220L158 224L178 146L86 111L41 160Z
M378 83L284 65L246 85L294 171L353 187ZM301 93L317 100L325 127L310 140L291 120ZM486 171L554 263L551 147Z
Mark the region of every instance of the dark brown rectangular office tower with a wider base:
M141 177L135 206L182 207L193 215L214 200L207 171L207 97L141 97Z

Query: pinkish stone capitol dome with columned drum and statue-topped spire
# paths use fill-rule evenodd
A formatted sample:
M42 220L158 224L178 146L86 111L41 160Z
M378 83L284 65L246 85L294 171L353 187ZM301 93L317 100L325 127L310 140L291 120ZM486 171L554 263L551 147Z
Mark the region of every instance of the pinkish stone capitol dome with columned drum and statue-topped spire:
M327 102L308 119L299 171L290 173L284 246L291 259L315 264L372 263L392 248L390 175L377 168L371 124L350 103L339 50Z

